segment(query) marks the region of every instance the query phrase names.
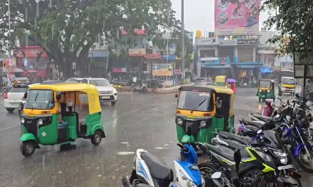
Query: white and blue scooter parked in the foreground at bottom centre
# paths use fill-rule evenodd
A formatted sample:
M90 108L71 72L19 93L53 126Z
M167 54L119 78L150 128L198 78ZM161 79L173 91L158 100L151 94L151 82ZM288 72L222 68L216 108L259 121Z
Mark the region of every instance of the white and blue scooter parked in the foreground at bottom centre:
M134 158L135 170L131 172L131 177L122 177L124 187L190 187L205 186L205 182L197 166L193 165L188 156L194 155L194 149L187 144L181 145L181 150L185 152L186 161L174 161L177 183L173 184L173 170L164 161L152 155L146 150L138 149ZM194 151L195 155L197 153ZM197 159L194 159L198 161Z

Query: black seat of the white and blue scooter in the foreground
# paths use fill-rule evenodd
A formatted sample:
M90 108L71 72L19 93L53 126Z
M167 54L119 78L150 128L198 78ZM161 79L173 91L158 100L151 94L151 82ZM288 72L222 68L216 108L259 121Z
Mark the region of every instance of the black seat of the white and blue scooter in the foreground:
M173 181L173 170L164 161L148 152L142 152L141 157L146 162L152 177L169 183Z

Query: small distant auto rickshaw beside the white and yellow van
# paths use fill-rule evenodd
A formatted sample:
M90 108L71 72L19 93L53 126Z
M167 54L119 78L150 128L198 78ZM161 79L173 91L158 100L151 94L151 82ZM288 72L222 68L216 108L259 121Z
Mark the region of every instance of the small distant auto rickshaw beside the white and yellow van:
M258 93L259 102L265 99L273 99L275 102L275 81L270 79L259 79Z

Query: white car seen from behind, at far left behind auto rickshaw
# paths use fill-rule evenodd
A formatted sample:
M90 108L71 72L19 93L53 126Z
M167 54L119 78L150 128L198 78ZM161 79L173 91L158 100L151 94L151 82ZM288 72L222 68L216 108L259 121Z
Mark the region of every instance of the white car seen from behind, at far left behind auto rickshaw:
M24 97L24 93L27 92L28 85L13 85L12 89L8 93L4 93L4 108L8 112L13 112L18 108L20 101Z

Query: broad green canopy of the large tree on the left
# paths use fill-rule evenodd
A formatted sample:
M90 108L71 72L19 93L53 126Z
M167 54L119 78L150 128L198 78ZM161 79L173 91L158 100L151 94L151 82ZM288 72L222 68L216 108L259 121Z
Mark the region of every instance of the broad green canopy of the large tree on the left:
M155 36L176 24L170 0L10 0L11 34L8 35L8 2L0 3L0 51L8 50L8 42L27 33L55 62L70 73L72 62L88 56L95 42L114 49L121 42L121 30L134 34L135 28L146 29ZM37 24L35 26L35 20ZM135 34L134 34L135 35ZM102 36L105 36L102 40ZM76 58L76 54L79 57Z

